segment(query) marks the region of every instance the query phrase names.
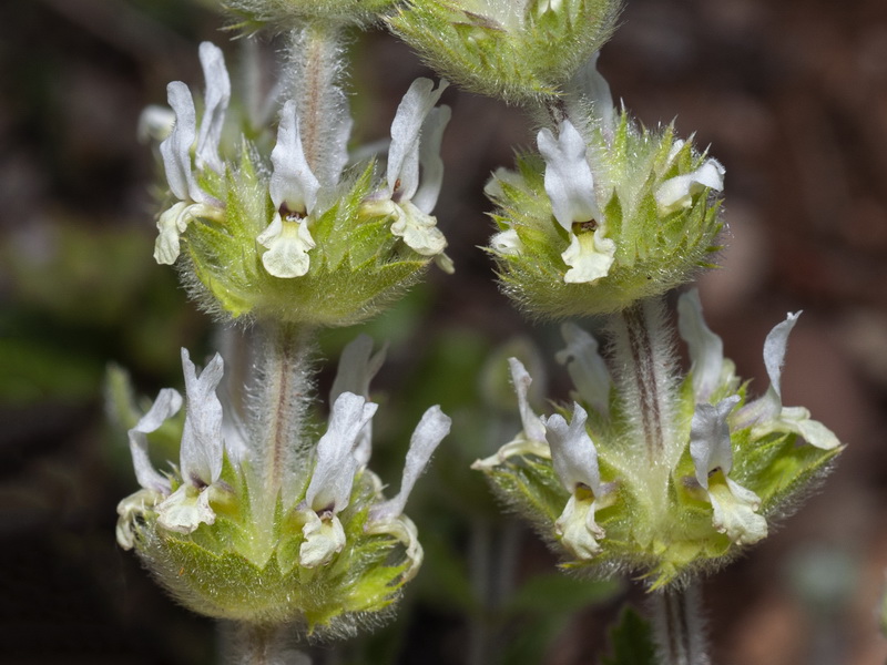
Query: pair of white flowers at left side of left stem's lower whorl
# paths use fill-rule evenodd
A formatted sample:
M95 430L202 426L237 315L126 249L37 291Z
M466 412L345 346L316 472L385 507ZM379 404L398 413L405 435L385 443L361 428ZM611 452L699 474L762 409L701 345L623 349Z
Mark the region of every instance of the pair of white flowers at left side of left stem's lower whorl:
M147 454L147 434L160 429L182 407L182 396L166 388L160 391L151 409L129 431L135 477L144 489L118 507L121 515L118 540L124 548L131 548L133 543L131 526L124 523L130 521L133 512L144 510L144 504L155 504L157 523L164 529L191 533L202 523L215 522L211 501L217 492L225 491L223 483L218 483L225 442L222 403L215 393L224 371L222 357L216 354L197 376L187 351L182 349L182 367L187 397L179 464L182 484L173 492L170 478L154 469Z

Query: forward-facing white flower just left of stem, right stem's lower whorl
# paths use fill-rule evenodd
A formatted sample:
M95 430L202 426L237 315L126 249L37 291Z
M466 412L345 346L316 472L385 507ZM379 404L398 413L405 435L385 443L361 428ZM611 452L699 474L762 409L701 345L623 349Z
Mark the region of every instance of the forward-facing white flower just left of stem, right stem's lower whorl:
M578 559L590 559L600 552L598 541L605 535L594 521L598 501L606 492L598 468L598 451L585 431L587 420L585 410L574 402L569 426L563 416L557 413L544 423L554 473L570 492L554 530L563 546Z

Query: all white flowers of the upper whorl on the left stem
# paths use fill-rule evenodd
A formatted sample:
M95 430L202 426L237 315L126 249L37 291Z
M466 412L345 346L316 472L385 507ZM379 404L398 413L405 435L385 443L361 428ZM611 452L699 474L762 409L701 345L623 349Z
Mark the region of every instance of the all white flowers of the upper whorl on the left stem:
M202 43L200 57L206 80L200 126L187 85L174 81L167 86L175 121L160 150L166 181L179 201L157 221L160 233L154 258L161 264L173 264L179 258L180 238L193 219L221 222L225 214L224 203L207 194L198 185L198 178L206 170L220 175L225 172L218 153L231 81L217 47ZM443 177L440 142L450 119L448 106L436 106L446 86L442 82L435 89L428 79L418 79L409 88L391 124L386 183L368 198L364 209L390 217L395 236L418 254L435 257L449 268L449 259L443 255L447 242L431 216ZM152 113L157 115L156 110ZM255 238L266 249L262 254L265 269L275 277L294 278L308 272L310 250L316 246L312 223L341 194L339 182L348 163L353 122L347 105L336 108L335 115L325 119L334 130L329 145L309 163L296 101L283 104L267 186L274 216ZM156 133L149 129L145 132Z

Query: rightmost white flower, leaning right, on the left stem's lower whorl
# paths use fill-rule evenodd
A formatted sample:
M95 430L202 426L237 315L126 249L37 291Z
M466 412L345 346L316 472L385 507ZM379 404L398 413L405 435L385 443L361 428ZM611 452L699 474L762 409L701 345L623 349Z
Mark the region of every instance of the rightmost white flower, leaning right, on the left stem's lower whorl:
M412 432L409 450L400 479L400 491L388 501L377 503L369 510L365 531L367 533L388 533L407 548L410 567L404 573L405 581L412 577L422 561L422 549L417 536L416 525L404 515L404 508L416 481L425 472L435 450L449 433L452 421L440 410L431 407L422 416Z

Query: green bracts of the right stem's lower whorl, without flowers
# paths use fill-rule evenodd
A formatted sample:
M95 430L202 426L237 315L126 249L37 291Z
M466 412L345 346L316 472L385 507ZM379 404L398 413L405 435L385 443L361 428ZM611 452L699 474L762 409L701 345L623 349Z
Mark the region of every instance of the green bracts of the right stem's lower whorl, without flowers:
M623 413L616 411L615 416ZM649 484L653 473L644 473L644 464L632 463L625 454L633 432L590 427L589 433L600 442L602 479L615 483L610 498L613 503L595 513L605 538L600 541L601 552L593 556L575 557L555 532L570 494L554 474L550 457L528 453L485 469L498 493L564 554L563 567L589 569L592 574L640 573L650 579L651 587L659 587L721 567L742 551L742 545L715 530L712 507L700 489L689 487L686 479L693 475L689 449L677 467L656 479L653 489ZM687 437L689 444L689 421L679 433ZM761 512L767 516L778 515L799 490L827 471L838 453L798 446L796 434L753 439L747 432L737 432L732 441L742 463L736 480L761 498Z

